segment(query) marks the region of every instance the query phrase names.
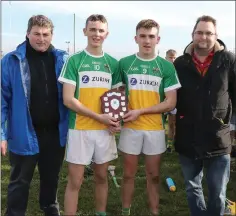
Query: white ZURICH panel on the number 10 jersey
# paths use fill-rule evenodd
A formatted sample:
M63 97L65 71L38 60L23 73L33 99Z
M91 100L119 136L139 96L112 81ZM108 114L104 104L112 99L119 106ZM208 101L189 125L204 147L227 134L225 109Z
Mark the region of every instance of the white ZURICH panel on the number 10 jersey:
M111 89L112 77L110 73L102 71L79 72L80 88L107 88Z

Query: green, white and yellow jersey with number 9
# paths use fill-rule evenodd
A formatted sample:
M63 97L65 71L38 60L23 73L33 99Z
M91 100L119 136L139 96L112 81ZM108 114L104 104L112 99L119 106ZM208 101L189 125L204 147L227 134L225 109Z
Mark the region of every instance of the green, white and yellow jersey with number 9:
M157 56L142 59L138 55L125 57L119 62L119 71L126 85L129 109L141 109L161 103L165 92L181 87L172 63ZM136 130L163 130L161 114L146 114L124 124Z

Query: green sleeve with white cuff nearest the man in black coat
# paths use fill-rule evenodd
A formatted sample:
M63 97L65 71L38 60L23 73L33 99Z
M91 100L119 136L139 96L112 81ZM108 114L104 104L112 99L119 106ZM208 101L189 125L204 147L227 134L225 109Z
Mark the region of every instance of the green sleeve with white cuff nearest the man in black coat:
M175 67L172 63L166 65L166 73L163 77L164 92L168 92L181 87Z

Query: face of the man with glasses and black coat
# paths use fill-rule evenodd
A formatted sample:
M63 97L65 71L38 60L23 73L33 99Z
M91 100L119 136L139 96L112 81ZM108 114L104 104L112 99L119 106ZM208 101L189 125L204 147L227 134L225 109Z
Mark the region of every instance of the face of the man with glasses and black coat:
M212 22L200 21L192 37L195 48L210 50L217 40L216 28Z

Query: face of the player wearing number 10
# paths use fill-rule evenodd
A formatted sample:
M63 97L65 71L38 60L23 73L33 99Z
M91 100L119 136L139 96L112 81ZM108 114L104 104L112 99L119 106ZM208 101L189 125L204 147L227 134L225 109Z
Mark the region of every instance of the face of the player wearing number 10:
M94 48L102 46L108 35L107 23L100 21L89 21L83 31L84 35L88 37L88 45Z

